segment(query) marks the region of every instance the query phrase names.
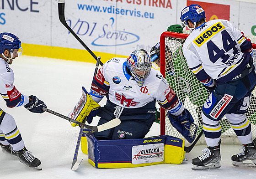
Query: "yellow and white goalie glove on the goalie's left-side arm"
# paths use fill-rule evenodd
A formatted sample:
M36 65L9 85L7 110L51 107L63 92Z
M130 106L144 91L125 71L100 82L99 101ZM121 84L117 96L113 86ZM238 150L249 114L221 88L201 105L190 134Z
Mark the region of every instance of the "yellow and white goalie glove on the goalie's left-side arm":
M80 123L85 123L86 119L88 123L91 123L93 117L99 112L101 106L91 98L91 95L84 87L82 87L82 90L82 96L74 109L69 113L69 117ZM73 127L78 126L76 123L72 123L71 125Z

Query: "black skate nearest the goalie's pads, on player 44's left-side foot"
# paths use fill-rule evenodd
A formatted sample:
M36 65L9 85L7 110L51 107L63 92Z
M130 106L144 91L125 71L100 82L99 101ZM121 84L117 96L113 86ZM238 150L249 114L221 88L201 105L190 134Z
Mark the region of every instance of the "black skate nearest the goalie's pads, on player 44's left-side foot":
M208 146L203 149L203 155L192 159L192 170L219 169L219 161L221 160L220 143L221 139L219 139L219 145L214 147Z

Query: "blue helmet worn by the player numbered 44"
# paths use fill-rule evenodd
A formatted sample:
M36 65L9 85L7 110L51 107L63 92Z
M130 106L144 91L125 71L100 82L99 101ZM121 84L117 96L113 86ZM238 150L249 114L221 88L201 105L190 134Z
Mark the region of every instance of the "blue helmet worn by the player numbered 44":
M200 5L192 4L185 7L183 10L181 10L180 19L181 19L181 25L183 27L186 27L186 26L188 27L187 20L191 20L192 23L194 23L194 25L196 26L197 22L205 19L205 12ZM189 29L192 31L194 30L194 28L193 29L189 28Z

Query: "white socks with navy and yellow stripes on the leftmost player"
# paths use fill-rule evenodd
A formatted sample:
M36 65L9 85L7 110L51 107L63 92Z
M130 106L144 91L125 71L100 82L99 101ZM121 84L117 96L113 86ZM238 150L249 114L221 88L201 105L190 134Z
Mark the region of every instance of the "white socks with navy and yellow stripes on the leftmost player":
M14 118L0 109L0 143L11 144L13 150L21 150L25 144Z

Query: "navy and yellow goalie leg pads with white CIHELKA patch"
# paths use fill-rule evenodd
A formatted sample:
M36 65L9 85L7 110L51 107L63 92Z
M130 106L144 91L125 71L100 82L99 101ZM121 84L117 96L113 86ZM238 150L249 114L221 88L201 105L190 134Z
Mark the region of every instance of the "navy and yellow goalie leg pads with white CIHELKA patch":
M181 164L185 158L184 140L168 135L138 139L97 140L94 132L84 129L81 149L83 153L88 153L88 162L96 168Z

